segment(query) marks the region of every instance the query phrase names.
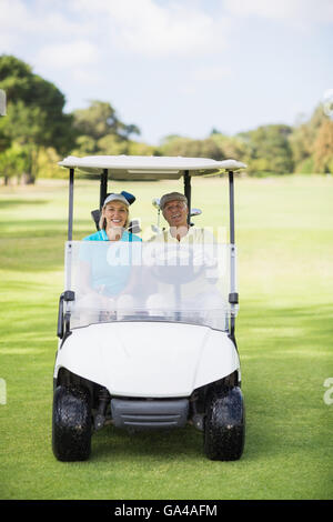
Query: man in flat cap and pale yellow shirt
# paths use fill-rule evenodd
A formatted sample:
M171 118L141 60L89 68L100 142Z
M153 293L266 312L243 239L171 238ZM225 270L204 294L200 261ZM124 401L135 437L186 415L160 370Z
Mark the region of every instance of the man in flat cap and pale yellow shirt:
M216 287L216 242L213 234L189 224L188 199L180 192L162 195L160 208L170 228L152 239L158 243L168 243L168 249L158 250L160 261L164 254L165 267L160 271L158 292L147 301L150 314L175 315L178 321L223 329L225 302ZM186 253L191 259L188 267ZM176 264L180 264L172 272L175 257ZM168 268L169 262L171 270ZM165 273L174 273L173 280L165 281Z

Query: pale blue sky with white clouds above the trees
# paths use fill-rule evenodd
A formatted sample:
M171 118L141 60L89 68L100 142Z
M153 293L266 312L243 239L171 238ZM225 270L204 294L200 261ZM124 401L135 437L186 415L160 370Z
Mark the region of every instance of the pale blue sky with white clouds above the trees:
M138 138L307 119L333 88L333 0L0 0L0 54L107 101Z

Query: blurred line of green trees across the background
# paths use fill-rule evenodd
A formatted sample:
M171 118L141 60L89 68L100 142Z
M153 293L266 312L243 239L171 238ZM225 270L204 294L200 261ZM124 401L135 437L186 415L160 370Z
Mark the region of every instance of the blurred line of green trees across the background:
M295 126L266 124L226 135L213 129L204 139L167 135L154 147L139 141L140 129L122 122L109 101L91 100L65 113L65 98L51 82L13 56L0 56L0 177L33 183L64 175L63 157L91 154L182 155L245 162L250 175L333 172L333 121L319 104Z

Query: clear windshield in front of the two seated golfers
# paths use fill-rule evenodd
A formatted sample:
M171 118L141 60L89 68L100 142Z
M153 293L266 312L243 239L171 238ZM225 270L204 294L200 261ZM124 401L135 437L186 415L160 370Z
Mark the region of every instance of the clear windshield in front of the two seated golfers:
M171 321L228 330L235 279L230 274L230 249L234 245L213 242L68 241L65 289L74 292L67 303L71 328Z

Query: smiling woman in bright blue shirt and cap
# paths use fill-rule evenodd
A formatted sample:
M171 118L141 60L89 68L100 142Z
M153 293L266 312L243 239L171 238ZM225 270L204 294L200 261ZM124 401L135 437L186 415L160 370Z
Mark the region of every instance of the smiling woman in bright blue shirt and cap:
M84 238L87 243L81 244L79 307L90 311L89 322L99 322L100 312L114 313L123 309L127 314L133 308L133 298L130 294L132 267L130 262L119 261L121 258L129 260L131 249L117 243L142 241L139 235L127 230L130 222L129 207L130 203L123 194L108 195L101 211L100 230ZM90 241L99 243L88 243ZM104 243L105 241L109 244ZM85 314L84 322L87 318ZM102 320L108 318L103 314Z

